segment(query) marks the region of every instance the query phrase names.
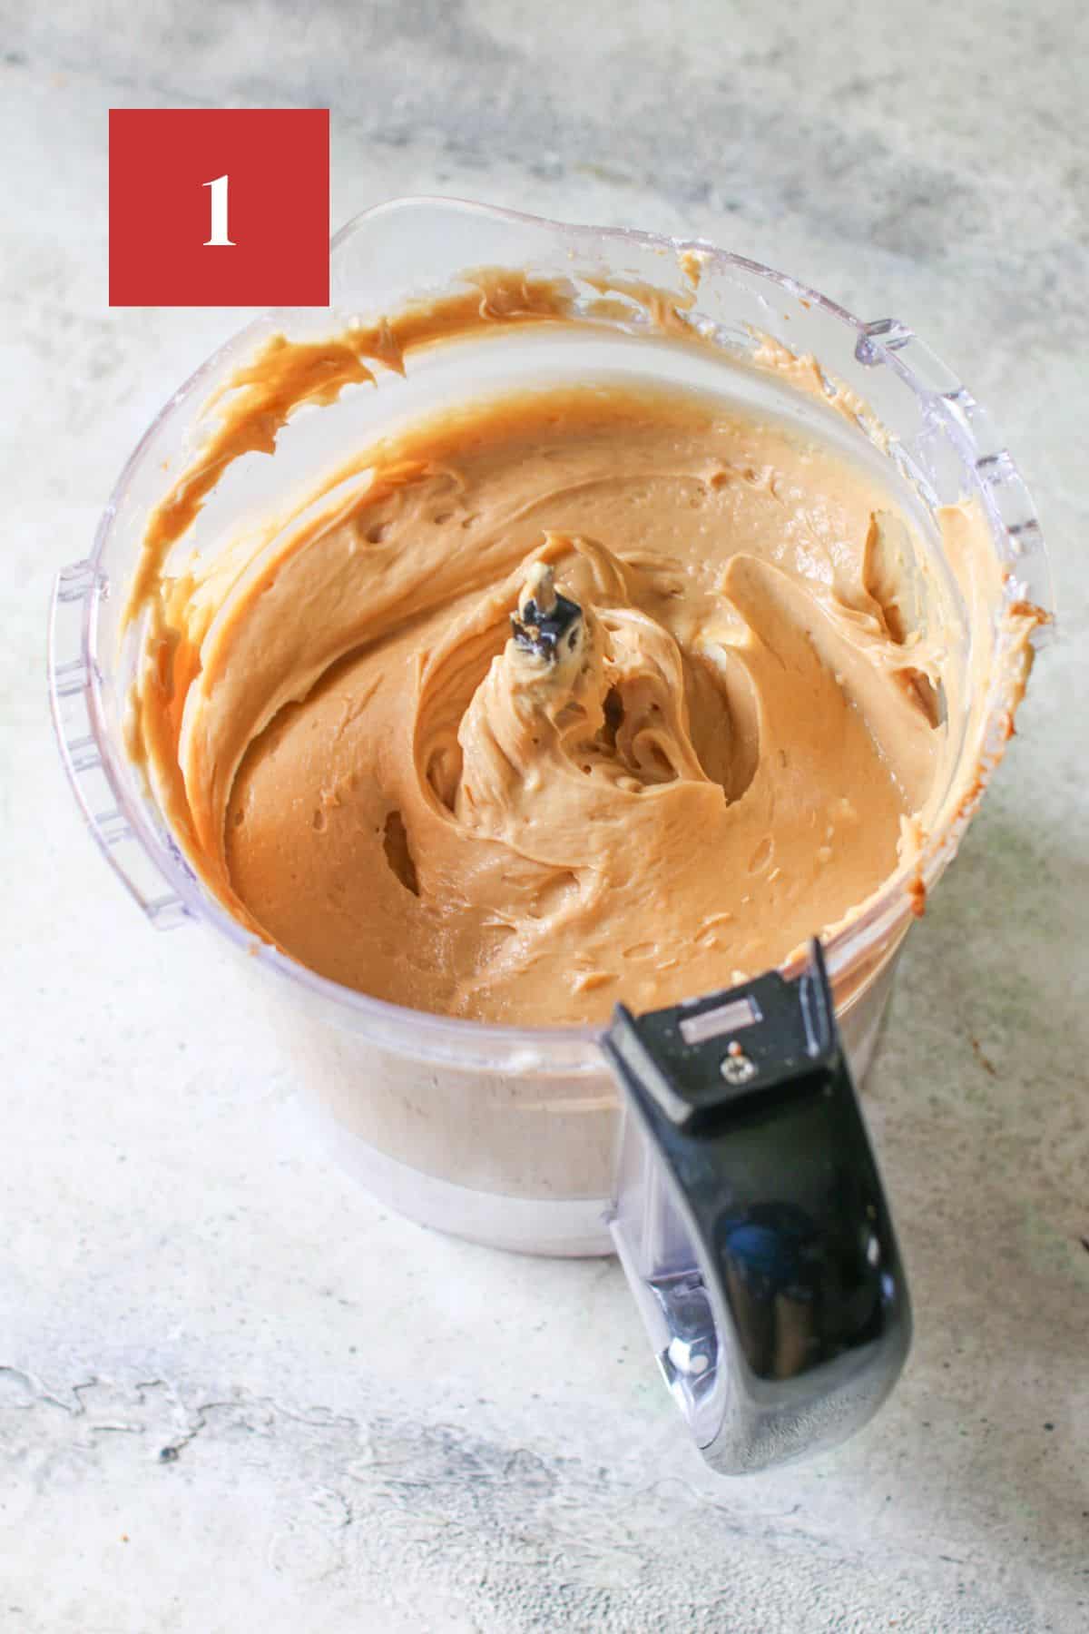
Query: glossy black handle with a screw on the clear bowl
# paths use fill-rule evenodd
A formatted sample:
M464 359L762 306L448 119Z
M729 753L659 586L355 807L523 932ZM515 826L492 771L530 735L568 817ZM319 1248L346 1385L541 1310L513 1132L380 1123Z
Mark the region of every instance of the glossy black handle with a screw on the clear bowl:
M860 1428L911 1309L820 943L671 1010L617 1007L625 1092L612 1235L707 1462L743 1474Z

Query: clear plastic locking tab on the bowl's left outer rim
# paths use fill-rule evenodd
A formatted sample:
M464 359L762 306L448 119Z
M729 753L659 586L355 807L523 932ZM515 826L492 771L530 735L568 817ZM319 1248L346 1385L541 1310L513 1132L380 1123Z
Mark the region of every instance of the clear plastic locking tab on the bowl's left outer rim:
M136 835L95 730L88 631L95 601L104 593L106 578L95 562L75 562L57 574L49 608L52 722L72 792L103 856L152 925L170 930L188 918L188 910Z

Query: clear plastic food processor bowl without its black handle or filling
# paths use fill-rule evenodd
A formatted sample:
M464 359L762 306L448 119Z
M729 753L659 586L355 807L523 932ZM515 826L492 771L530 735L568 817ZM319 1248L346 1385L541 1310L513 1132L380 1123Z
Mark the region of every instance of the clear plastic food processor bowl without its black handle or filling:
M645 310L611 322L589 314L607 271L691 294L682 252L697 252L702 278L687 320L718 342L694 346L651 330ZM242 967L268 987L269 1020L282 1033L304 1087L343 1159L392 1208L442 1230L537 1253L606 1253L604 1212L617 1150L619 1092L596 1033L522 1029L447 1020L349 992L255 943L207 894L129 761L122 721L137 662L129 631L119 641L126 585L149 511L207 431L201 408L212 391L271 335L318 338L349 319L374 319L405 301L447 291L467 268L506 266L570 279L586 322L542 324L526 333L475 333L456 346L410 355L407 377L351 387L325 408L299 413L273 458L251 454L220 479L180 549L214 554L247 518L289 508L309 479L335 467L367 438L442 402L609 376L691 384L731 402L774 410L877 461L898 502L937 552L934 511L978 495L1006 574L991 609L998 659L1011 636L1004 603L1050 608L1040 528L1014 467L971 394L895 319L864 324L792 278L705 243L648 234L568 227L478 204L402 199L356 217L331 252L333 314L287 310L251 324L171 397L126 466L90 556L56 587L51 686L64 761L83 814L134 900L157 930L209 925ZM576 302L576 304L578 304ZM730 359L751 353L754 333L793 353L813 353L829 379L869 405L887 441ZM456 355L456 356L454 356ZM168 474L165 474L165 471ZM1007 735L1004 667L991 667L981 722L950 721L962 757L981 783ZM934 833L918 869L929 889L953 856L971 810ZM859 1078L870 1060L911 897L893 879L872 905L826 943L839 1028ZM284 998L292 1005L284 1005Z

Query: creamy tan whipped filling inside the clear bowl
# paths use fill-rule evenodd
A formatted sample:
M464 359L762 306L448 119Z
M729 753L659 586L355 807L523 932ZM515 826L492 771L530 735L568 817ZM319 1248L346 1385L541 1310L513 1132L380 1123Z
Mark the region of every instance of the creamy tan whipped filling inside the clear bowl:
M369 464L245 569L167 580L137 699L189 853L287 953L423 1010L596 1021L780 962L918 845L952 636L862 467L591 386ZM581 611L555 660L511 631L534 585Z

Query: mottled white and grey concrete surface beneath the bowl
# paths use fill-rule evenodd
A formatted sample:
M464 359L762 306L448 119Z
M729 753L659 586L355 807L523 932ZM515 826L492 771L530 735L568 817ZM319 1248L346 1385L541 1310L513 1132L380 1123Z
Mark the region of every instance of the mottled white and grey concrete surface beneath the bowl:
M0 1629L1089 1626L1084 8L0 3ZM704 234L913 322L1037 493L1065 639L908 949L869 1109L918 1338L715 1484L622 1278L441 1240L310 1141L255 997L82 832L44 609L243 314L106 307L106 108L333 109L333 219Z

